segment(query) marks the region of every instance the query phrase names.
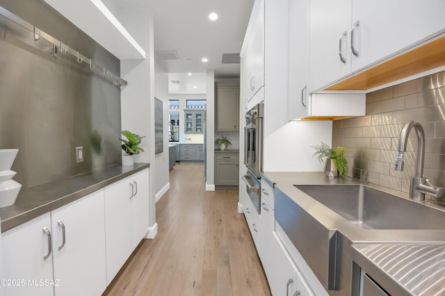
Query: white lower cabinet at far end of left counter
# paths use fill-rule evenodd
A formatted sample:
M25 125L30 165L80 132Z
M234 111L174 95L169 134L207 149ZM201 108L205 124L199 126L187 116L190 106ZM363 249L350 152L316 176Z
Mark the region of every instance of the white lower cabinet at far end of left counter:
M109 285L148 231L148 170L106 186L104 193Z

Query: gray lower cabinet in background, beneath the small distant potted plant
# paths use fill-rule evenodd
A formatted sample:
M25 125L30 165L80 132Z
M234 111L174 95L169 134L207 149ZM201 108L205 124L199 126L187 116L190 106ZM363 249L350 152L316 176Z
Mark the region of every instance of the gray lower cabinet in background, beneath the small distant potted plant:
M215 185L238 186L239 151L215 151Z

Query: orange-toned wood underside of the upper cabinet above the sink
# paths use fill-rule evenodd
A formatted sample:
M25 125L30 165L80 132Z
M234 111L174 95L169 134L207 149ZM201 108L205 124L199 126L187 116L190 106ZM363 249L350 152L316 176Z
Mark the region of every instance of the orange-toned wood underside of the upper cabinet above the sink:
M445 65L445 37L340 81L325 90L369 90Z

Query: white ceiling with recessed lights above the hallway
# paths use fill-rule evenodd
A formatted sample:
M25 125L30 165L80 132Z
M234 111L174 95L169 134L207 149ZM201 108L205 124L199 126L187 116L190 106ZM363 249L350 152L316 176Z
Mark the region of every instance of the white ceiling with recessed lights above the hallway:
M239 64L221 63L222 54L239 54L254 0L103 0L115 8L147 8L154 16L154 51L176 51L163 60L168 72L206 72L239 77ZM111 7L110 10L113 11ZM218 19L209 20L215 12ZM207 57L208 63L201 59Z

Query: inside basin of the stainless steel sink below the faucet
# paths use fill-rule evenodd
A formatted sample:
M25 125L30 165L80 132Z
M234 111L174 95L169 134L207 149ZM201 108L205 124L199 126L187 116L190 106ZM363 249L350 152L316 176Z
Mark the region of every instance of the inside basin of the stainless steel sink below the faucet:
M294 185L364 229L444 229L445 211L364 185Z

